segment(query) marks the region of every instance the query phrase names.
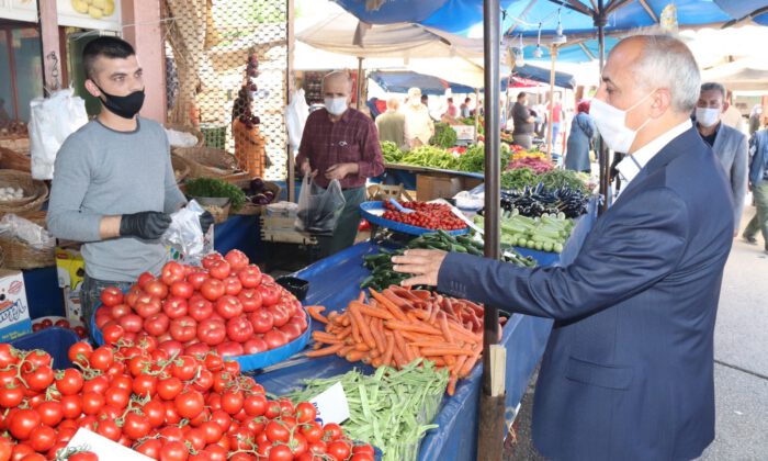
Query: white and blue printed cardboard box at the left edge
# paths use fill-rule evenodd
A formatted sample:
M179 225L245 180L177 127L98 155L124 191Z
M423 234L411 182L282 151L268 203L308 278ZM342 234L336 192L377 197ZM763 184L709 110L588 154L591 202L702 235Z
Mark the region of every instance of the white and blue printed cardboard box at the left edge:
M0 269L0 342L32 333L24 277L20 270Z

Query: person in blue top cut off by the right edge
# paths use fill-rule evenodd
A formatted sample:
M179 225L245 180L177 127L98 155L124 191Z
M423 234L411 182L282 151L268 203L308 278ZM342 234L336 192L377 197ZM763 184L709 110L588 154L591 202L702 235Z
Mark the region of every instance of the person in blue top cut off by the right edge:
M756 132L749 139L749 190L755 198L755 216L744 229L744 240L757 245L755 236L763 233L765 252L768 254L768 130Z

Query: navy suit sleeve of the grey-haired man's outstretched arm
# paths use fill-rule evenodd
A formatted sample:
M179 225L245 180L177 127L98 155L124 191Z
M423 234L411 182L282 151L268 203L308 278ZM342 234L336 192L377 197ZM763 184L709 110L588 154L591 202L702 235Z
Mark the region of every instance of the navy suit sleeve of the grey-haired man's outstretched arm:
M685 202L653 189L614 205L565 268L519 268L464 254L449 254L438 290L539 317L566 321L594 314L652 286L670 273L687 245Z

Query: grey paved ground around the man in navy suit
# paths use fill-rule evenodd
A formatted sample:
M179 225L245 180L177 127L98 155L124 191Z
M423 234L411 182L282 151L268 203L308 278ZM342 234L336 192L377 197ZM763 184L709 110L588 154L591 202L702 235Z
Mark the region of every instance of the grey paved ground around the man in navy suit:
M746 206L742 228L755 209ZM715 440L702 461L768 460L768 255L734 240L725 267L715 326ZM535 382L535 380L532 380ZM534 386L516 421L518 445L507 460L543 460L531 447Z

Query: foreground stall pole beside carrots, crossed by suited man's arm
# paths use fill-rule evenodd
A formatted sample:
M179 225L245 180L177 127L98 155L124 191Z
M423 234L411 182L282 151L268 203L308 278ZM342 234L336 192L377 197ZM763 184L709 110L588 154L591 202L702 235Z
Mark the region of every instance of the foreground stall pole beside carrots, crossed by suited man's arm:
M499 126L499 0L483 2L485 48L485 256L498 259L500 207ZM477 459L500 461L505 434L504 394L492 395L490 346L498 342L498 310L486 305L483 317L483 389L479 396Z

